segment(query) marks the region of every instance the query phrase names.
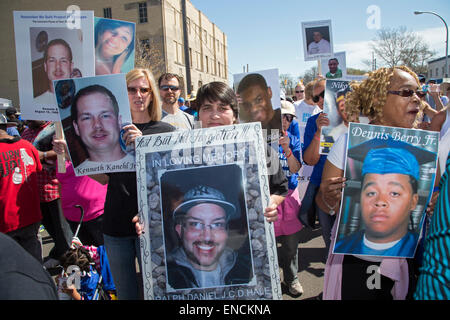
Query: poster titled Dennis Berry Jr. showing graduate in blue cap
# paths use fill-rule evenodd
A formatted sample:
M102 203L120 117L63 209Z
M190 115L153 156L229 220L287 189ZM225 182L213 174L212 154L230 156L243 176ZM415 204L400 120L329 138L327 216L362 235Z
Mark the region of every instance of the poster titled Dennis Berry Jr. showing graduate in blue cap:
M434 186L439 133L350 123L333 253L414 256Z

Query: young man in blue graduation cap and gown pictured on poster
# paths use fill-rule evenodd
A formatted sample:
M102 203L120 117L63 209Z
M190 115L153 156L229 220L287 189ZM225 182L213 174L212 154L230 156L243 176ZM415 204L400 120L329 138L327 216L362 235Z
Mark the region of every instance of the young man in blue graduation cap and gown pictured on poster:
M436 154L389 137L356 145L348 157L363 162L363 227L338 239L334 253L413 257L420 230L411 212L419 202L420 166L435 161Z

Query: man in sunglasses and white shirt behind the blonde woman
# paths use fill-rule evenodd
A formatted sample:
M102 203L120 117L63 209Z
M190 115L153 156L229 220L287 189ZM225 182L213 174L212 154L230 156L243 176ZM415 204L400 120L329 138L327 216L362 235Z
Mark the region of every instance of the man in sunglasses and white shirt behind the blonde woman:
M174 73L164 73L158 79L162 101L162 119L179 130L194 128L194 117L180 110L178 99L181 95L180 77Z

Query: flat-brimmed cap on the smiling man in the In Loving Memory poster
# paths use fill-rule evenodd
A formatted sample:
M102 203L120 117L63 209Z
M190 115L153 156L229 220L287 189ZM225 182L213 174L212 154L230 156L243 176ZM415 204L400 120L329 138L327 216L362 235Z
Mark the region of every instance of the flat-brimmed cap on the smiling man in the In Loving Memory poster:
M222 192L205 185L195 186L186 192L183 203L173 211L173 217L175 218L178 215L186 214L189 209L201 203L213 203L221 206L225 210L228 220L234 220L240 217L239 213L236 211L236 207L232 203L226 201Z

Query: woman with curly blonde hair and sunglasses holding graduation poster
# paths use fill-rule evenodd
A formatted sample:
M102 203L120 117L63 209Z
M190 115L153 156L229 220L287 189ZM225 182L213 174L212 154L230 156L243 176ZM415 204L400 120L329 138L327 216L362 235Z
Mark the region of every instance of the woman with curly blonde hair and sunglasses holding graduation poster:
M380 68L362 82L352 82L346 97L349 121L359 122L359 116L369 118L370 124L413 128L420 111L420 87L416 74L407 67ZM325 212L334 214L339 208L345 186L344 164L347 134L333 145L324 166L316 203ZM337 211L337 210L336 210ZM332 253L338 219L333 226L332 244L325 267L323 298L327 300L403 300L411 297L414 284L404 258L377 258ZM411 259L409 259L411 260ZM411 262L411 261L410 261ZM376 265L380 272L380 289L370 290L367 273Z

